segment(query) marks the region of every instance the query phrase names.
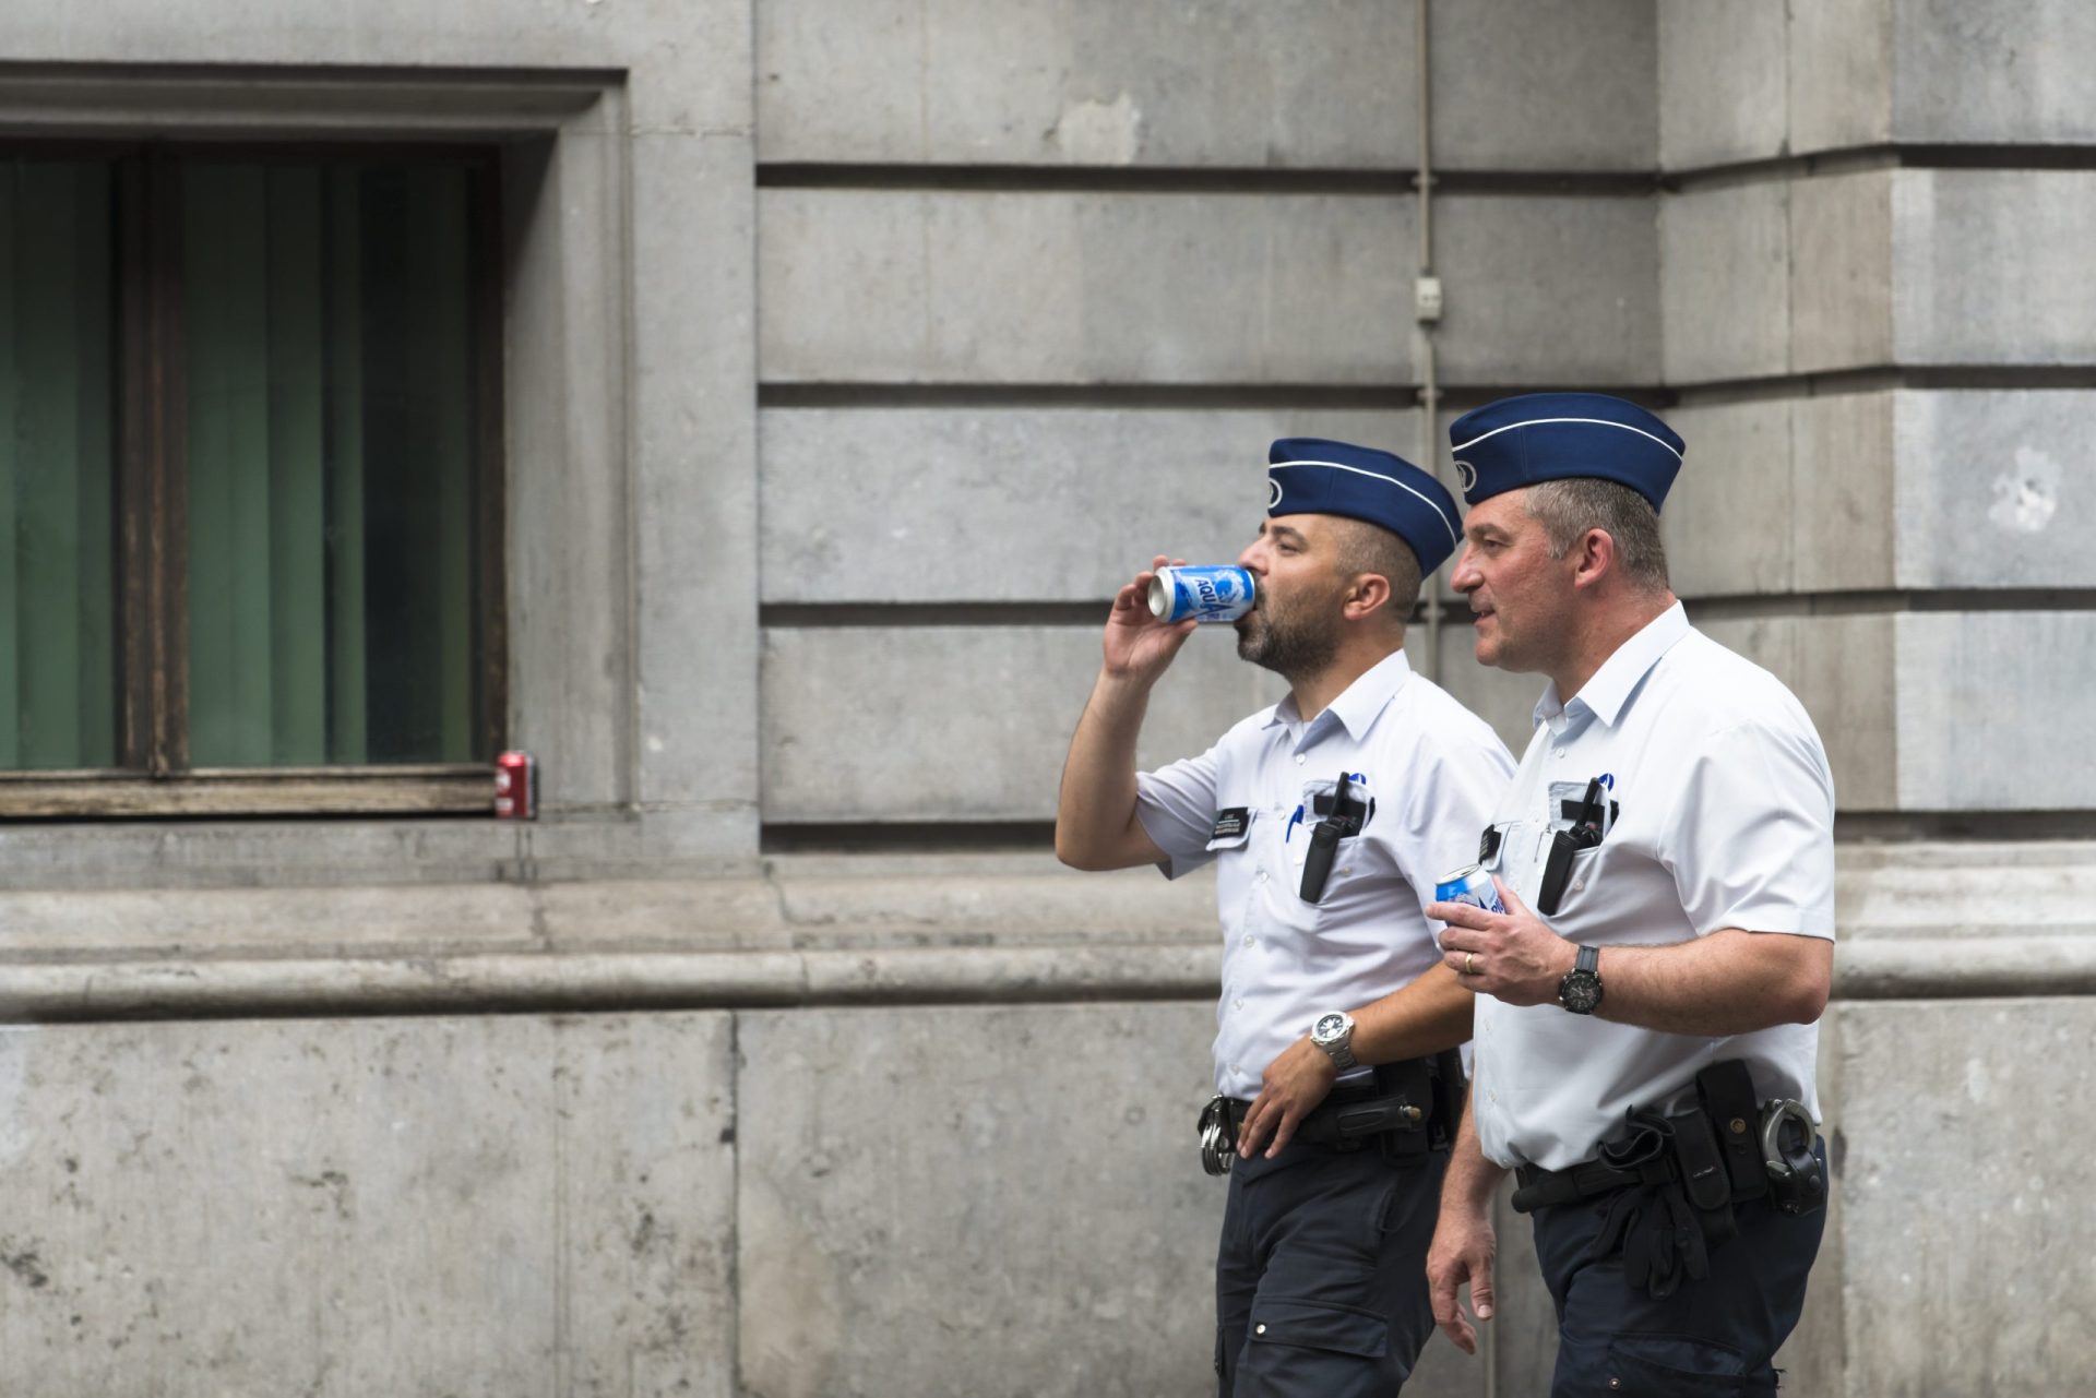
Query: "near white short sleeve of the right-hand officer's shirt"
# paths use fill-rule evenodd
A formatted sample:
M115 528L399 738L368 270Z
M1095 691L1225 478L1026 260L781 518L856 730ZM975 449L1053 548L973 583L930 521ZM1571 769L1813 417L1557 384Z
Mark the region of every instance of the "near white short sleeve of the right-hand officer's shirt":
M1834 937L1834 778L1811 723L1754 719L1706 738L1662 857L1698 937Z

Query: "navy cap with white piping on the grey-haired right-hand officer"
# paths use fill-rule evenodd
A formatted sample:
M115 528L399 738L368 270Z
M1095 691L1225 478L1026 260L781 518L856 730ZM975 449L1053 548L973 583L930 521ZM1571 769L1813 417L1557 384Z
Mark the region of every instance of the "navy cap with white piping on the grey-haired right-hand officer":
M1448 423L1463 499L1476 505L1538 480L1593 476L1643 495L1652 509L1681 469L1681 438L1658 417L1608 394L1522 394Z

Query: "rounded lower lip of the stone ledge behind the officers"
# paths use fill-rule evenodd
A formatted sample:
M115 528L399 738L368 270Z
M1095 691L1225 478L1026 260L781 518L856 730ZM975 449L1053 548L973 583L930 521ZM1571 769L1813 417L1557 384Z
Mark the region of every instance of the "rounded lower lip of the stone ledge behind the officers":
M0 966L0 1023L1209 1000L1211 943ZM2096 993L2096 937L1844 943L1836 1000Z

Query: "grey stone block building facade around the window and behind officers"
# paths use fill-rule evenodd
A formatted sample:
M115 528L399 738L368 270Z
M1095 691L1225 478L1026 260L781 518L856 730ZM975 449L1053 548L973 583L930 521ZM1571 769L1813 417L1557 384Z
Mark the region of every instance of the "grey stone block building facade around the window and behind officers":
M1207 895L1042 853L1105 597L1270 436L1549 386L1675 421L1677 587L1834 761L1786 1392L2088 1388L2096 19L1421 2L0 4L13 136L503 147L545 769L0 826L0 1390L1209 1392ZM1272 694L1201 637L1144 757ZM1547 1385L1505 1224L1421 1392Z

